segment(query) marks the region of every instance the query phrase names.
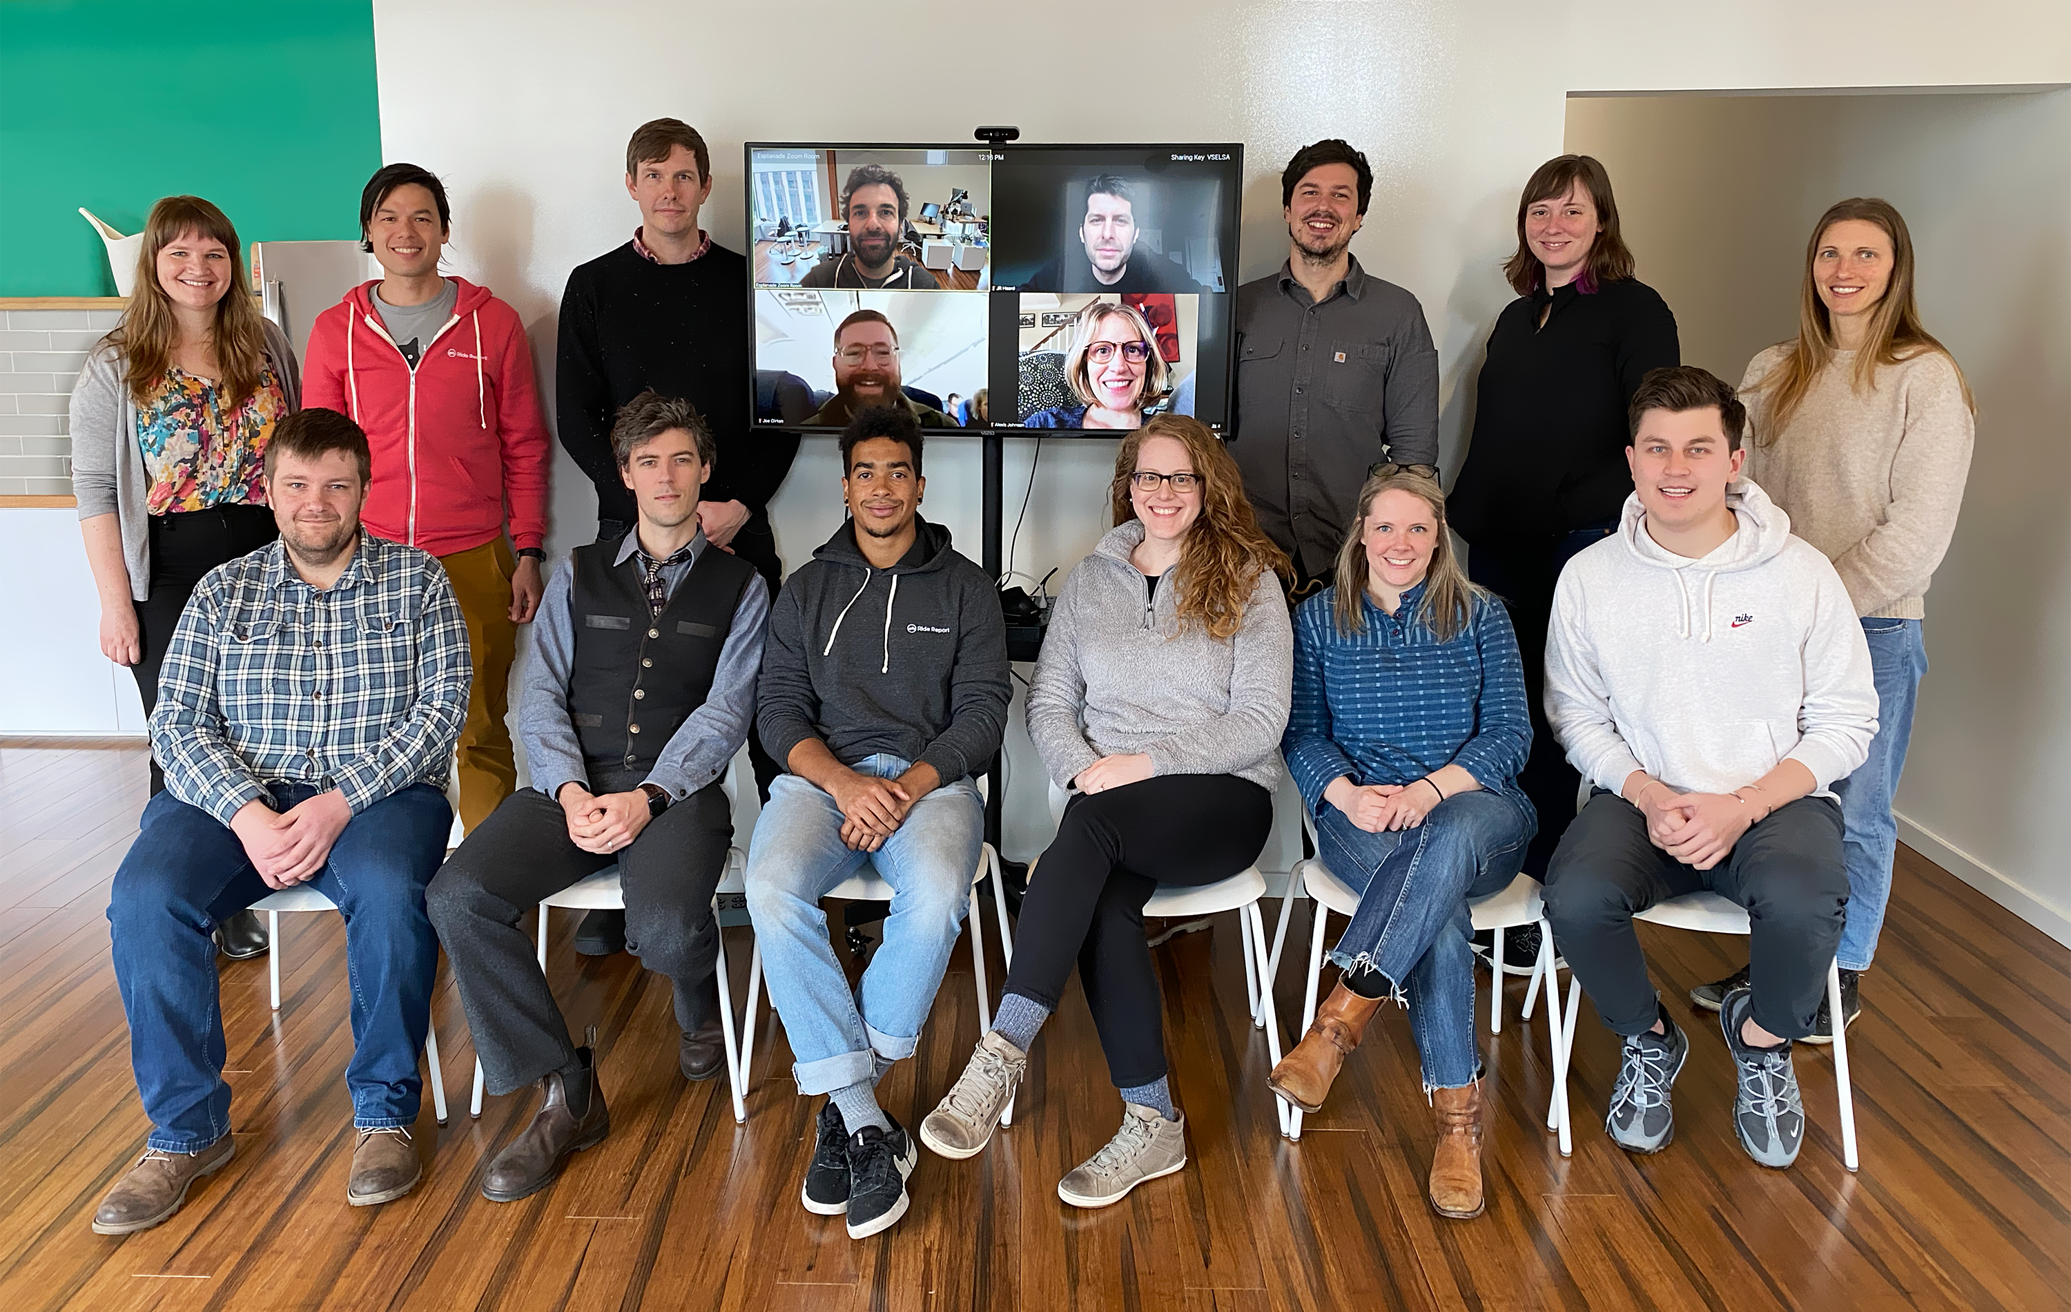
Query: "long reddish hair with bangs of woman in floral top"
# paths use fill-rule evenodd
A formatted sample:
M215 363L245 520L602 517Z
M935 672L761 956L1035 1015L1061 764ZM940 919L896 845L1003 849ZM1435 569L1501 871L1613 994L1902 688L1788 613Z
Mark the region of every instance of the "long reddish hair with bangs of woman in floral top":
M137 253L137 286L122 311L122 323L108 334L108 344L126 361L130 398L143 402L166 377L180 344L180 321L172 313L172 296L157 284L157 253L182 236L207 236L230 251L232 278L224 298L215 303L211 344L222 377L215 379L228 404L240 406L259 390L265 373L265 330L259 307L253 305L251 278L244 274L244 247L230 218L201 197L166 197L151 205L143 226L143 249Z

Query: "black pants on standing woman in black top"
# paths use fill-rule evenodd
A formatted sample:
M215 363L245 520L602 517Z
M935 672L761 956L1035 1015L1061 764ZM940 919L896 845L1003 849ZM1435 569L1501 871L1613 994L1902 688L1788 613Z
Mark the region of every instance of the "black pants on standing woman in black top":
M1553 584L1576 551L1603 541L1613 529L1615 522L1576 529L1539 551L1472 547L1466 553L1466 576L1504 599L1510 626L1518 632L1518 655L1524 657L1533 750L1518 771L1518 788L1539 812L1539 833L1524 850L1524 873L1539 881L1547 877L1547 862L1553 860L1553 848L1574 817L1574 798L1582 786L1582 775L1568 765L1568 754L1547 723L1545 659L1547 628L1553 622Z

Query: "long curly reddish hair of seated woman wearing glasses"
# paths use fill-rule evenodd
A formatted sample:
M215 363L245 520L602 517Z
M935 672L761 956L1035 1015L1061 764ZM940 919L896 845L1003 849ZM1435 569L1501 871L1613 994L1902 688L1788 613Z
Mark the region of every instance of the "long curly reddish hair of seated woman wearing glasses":
M1251 500L1245 497L1245 477L1236 473L1236 460L1222 439L1187 415L1151 417L1114 452L1114 483L1108 495L1114 502L1116 524L1137 518L1137 508L1129 500L1129 477L1137 473L1137 452L1151 437L1172 437L1185 446L1193 473L1201 479L1201 518L1187 533L1172 578L1178 587L1178 624L1180 628L1201 624L1207 636L1228 643L1245 626L1245 607L1251 605L1259 574L1272 570L1292 578L1294 566L1259 529Z

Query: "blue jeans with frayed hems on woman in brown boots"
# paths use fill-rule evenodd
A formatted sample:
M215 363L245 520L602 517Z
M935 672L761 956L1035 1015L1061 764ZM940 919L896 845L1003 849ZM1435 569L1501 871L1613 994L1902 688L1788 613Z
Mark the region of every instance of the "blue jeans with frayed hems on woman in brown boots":
M1377 970L1408 1005L1425 1088L1462 1088L1481 1069L1466 900L1510 887L1537 829L1533 804L1514 792L1454 794L1417 829L1383 833L1321 806L1317 856L1359 893L1330 960Z

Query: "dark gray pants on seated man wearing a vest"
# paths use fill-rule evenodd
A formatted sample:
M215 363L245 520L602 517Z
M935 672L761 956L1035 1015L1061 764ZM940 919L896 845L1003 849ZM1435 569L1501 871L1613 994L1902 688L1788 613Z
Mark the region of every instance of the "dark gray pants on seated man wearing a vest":
M625 889L625 949L675 985L677 1024L696 1030L712 1014L712 889L731 842L733 810L719 783L669 806L613 856L578 848L567 812L536 788L503 798L425 891L489 1092L514 1092L576 1059L538 945L520 920L541 897L605 866L619 866Z

